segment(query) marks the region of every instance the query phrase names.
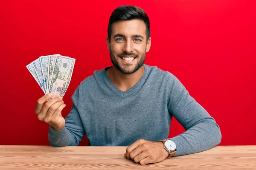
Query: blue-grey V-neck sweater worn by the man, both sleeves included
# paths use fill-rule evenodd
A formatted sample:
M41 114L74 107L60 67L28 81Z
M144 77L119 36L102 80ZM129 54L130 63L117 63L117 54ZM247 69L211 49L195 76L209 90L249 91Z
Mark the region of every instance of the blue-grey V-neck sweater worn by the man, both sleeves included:
M175 156L208 150L221 142L215 120L170 72L149 65L127 91L119 90L104 68L84 79L72 96L62 130L49 128L52 146L78 145L86 134L91 146L129 146L138 139L167 139L172 116L186 132L170 138Z

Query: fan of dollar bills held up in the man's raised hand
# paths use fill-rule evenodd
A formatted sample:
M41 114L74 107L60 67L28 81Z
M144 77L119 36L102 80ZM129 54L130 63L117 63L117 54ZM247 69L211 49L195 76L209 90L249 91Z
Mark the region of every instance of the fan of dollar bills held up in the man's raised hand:
M44 94L63 97L70 84L76 59L60 54L41 56L26 66Z

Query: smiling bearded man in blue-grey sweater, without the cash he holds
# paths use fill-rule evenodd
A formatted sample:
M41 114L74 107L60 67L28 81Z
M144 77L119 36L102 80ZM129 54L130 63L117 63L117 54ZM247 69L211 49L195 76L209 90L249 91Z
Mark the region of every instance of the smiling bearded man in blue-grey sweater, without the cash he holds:
M145 165L220 143L215 120L181 82L168 71L144 64L151 37L141 8L116 8L106 40L113 67L94 71L81 82L65 119L61 97L49 100L52 94L46 94L38 99L35 113L50 125L52 146L78 145L86 134L92 146L129 146L124 156ZM172 116L186 132L166 139Z

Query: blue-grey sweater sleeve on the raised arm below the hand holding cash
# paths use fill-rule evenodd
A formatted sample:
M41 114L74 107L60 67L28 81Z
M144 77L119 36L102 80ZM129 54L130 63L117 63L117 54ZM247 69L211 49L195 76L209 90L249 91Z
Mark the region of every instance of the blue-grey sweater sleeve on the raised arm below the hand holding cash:
M72 96L73 106L65 118L65 126L62 130L54 130L49 127L48 139L52 146L77 146L85 134L81 117L77 110L79 99L79 87Z

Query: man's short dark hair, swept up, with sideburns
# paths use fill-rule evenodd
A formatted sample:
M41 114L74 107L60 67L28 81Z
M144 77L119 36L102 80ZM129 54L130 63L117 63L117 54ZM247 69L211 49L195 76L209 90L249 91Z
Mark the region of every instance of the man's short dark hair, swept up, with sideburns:
M139 8L137 6L130 6L130 5L119 6L112 12L108 21L108 38L111 37L113 23L120 20L134 20L134 19L144 21L146 25L146 35L148 40L148 38L150 37L150 24L149 24L148 15L145 13L145 11L142 8Z

